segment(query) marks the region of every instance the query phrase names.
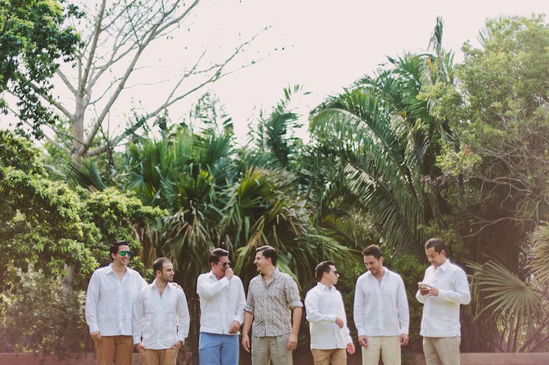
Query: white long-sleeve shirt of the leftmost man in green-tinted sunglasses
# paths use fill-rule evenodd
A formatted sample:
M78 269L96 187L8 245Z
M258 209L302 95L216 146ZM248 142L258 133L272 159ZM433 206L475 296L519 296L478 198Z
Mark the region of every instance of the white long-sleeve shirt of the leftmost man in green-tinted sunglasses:
M86 292L86 323L90 333L132 336L133 303L146 285L145 279L128 267L121 280L113 271L113 264L95 270Z

